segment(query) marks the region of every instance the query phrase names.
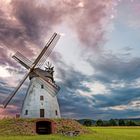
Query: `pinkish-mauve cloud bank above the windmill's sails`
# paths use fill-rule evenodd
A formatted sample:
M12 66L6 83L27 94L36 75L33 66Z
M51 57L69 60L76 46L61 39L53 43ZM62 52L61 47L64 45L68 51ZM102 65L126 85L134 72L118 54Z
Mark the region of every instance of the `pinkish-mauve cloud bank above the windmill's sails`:
M84 46L98 48L104 40L105 24L114 6L112 0L11 0L9 3L1 1L1 4L0 45L5 61L8 61L9 50L34 56L44 44L46 35L61 23L72 27Z

